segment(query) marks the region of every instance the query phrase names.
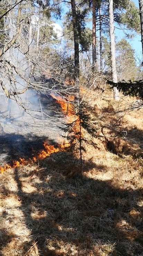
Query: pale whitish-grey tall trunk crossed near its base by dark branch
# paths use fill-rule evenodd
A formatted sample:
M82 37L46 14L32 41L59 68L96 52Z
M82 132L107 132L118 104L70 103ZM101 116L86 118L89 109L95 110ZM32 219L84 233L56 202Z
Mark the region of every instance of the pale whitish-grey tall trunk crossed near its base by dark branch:
M118 82L115 56L115 35L114 35L114 16L113 16L113 0L109 0L109 34L110 34L110 54L111 54L111 69L112 80ZM119 100L119 91L116 87L113 89L114 99Z

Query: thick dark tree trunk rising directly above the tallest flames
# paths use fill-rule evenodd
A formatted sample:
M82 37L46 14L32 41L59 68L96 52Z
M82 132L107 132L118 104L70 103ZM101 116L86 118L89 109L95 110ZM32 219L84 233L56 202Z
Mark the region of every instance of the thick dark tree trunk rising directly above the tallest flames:
M77 24L77 13L75 8L75 0L71 0L72 9L72 24L74 35L74 66L75 66L75 79L79 78L79 33Z

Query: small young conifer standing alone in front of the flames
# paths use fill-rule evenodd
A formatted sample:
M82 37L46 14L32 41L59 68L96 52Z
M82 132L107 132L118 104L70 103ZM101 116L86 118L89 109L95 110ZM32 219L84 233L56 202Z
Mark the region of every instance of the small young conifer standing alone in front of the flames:
M80 166L81 175L83 175L83 160L82 152L86 152L86 145L90 144L96 147L96 143L93 138L97 136L97 128L95 123L91 120L91 116L88 113L88 104L82 99L80 93L76 101L73 104L74 110L71 112L71 119L68 124L64 124L64 127L60 127L69 142L68 149L80 153ZM85 133L86 131L86 133Z

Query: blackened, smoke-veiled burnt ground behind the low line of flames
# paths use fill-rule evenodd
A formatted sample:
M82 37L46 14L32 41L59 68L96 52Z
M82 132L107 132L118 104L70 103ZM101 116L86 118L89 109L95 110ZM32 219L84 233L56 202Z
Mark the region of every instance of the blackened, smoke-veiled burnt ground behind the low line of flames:
M58 126L63 115L55 100L45 95L28 95L27 112L13 100L0 95L0 165L31 158L43 149L43 143L61 143ZM29 110L28 110L29 108Z

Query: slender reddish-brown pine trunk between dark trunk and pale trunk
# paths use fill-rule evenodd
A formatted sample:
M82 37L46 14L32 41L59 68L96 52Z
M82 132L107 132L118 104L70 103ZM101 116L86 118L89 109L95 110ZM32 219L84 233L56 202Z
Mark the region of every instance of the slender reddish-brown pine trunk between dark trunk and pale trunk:
M96 59L96 0L92 0L92 68L95 69Z

